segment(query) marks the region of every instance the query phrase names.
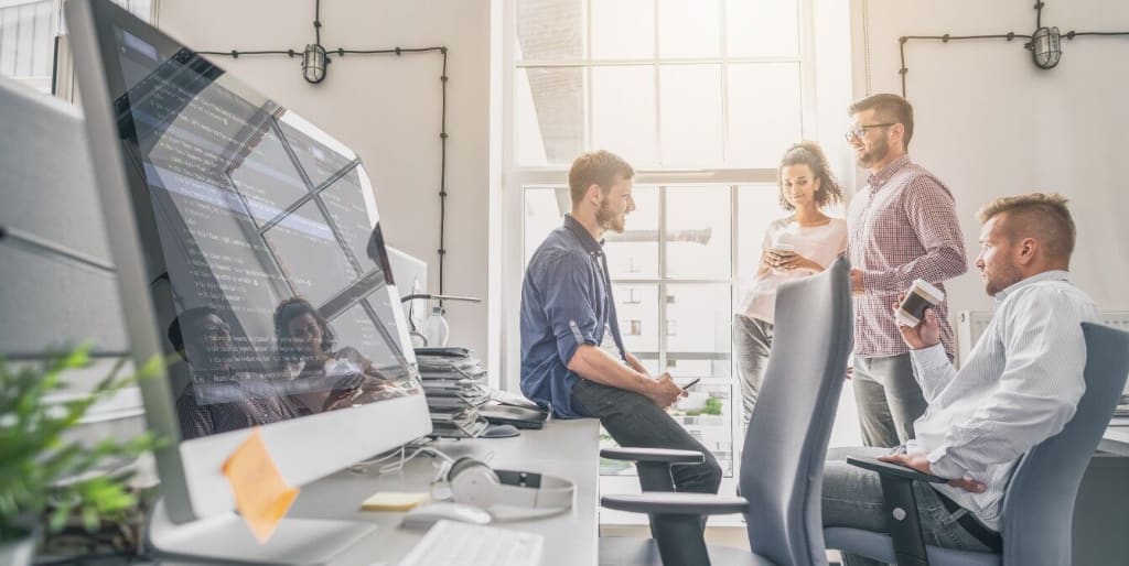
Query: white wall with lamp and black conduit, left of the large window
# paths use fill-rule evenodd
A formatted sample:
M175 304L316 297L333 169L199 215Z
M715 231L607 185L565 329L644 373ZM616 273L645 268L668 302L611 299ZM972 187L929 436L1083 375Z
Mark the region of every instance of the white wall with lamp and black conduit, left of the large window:
M157 25L199 51L300 51L314 0L161 0ZM322 2L326 48L448 47L444 291L487 299L490 2ZM286 55L215 58L233 74L350 145L376 186L387 244L426 259L438 291L440 82L437 53L336 58L324 82ZM487 310L448 303L452 344L487 353Z

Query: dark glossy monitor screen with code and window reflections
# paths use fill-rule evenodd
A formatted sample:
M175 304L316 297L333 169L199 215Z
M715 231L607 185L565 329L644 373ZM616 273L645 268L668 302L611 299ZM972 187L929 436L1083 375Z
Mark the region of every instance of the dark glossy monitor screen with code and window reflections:
M191 50L113 34L158 311L191 377L172 388L183 437L420 395L357 156Z

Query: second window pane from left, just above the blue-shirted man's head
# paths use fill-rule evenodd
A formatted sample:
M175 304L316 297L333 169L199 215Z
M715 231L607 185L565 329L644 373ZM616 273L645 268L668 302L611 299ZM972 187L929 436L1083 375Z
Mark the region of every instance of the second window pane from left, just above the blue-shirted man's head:
M657 161L654 67L592 70L592 145L636 168Z

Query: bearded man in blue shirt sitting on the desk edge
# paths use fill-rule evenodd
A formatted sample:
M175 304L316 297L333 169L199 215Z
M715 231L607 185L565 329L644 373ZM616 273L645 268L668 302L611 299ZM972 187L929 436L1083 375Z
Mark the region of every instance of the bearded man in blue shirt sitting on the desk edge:
M522 285L522 392L559 418L599 418L623 446L702 452L704 463L673 467L675 487L717 493L721 467L665 412L685 392L668 373L653 378L620 337L603 236L623 232L633 176L606 151L572 162L572 212L537 248Z

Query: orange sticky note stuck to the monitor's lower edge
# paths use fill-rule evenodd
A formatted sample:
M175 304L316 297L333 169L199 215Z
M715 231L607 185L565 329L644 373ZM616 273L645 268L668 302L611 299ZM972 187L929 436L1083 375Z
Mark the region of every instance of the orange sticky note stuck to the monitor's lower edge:
M224 475L235 492L235 508L251 525L259 542L266 542L298 497L298 489L282 479L259 427L251 431L251 436L224 462Z

